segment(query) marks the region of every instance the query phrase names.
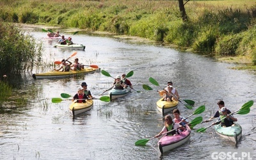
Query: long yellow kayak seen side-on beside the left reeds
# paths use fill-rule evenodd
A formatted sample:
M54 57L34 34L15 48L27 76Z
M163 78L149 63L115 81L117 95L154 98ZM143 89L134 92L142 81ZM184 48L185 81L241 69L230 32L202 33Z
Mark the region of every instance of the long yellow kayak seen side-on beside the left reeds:
M77 74L93 74L98 69L99 68L96 69L96 68L86 67L82 70L70 70L68 72L60 72L60 71L54 70L54 71L49 71L49 72L44 72L39 74L33 74L32 77L34 79L70 77Z

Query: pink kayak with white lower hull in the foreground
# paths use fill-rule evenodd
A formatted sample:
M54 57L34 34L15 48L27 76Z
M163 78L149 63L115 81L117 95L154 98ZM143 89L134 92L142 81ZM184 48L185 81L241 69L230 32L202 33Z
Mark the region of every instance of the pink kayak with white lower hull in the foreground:
M190 138L190 134L191 129L188 125L186 125L186 129L184 129L182 132L179 132L179 134L175 134L175 136L163 136L158 141L158 147L161 154L163 155L164 152L177 148L180 145L186 143Z

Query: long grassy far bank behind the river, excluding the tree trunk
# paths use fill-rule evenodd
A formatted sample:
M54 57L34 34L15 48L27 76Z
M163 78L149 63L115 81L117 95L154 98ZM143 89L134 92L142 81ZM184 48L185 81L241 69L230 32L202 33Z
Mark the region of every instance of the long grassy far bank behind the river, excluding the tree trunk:
M0 6L5 22L140 36L216 57L243 56L256 65L255 1L189 1L187 22L177 1L4 0Z

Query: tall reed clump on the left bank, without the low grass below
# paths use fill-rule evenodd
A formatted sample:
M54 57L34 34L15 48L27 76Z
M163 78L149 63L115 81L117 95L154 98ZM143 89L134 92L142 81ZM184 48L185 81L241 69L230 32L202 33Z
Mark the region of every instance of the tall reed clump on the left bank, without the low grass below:
M6 75L8 82L15 84L40 62L42 44L17 26L1 21L0 24L0 76Z

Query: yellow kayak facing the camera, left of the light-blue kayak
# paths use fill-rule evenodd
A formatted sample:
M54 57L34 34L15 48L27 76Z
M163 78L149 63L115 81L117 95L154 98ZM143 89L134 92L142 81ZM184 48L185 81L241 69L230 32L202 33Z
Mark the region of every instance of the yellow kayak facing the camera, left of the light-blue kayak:
M86 100L85 103L72 102L68 110L73 116L75 116L75 115L79 115L80 113L90 111L92 107L93 107L93 100Z

